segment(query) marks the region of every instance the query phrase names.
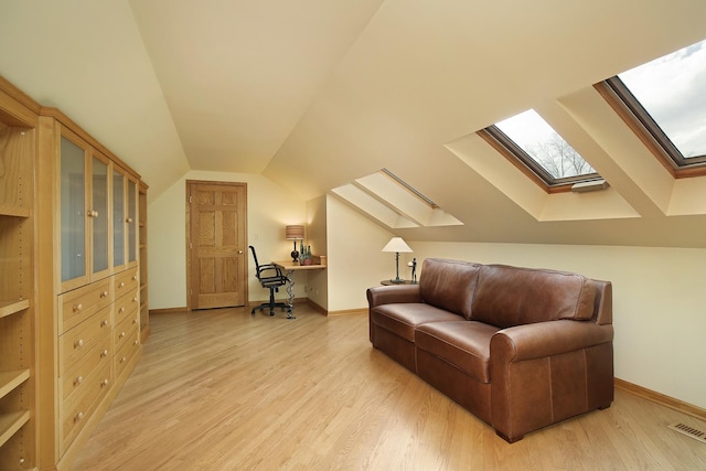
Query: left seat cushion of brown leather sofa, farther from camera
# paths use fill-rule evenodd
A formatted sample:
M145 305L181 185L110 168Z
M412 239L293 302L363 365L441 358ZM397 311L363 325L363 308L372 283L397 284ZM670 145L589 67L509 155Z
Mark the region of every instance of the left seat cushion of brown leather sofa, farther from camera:
M434 306L404 302L382 304L371 311L371 321L409 341L415 341L415 328L425 322L458 321L459 315ZM466 321L464 321L466 322Z

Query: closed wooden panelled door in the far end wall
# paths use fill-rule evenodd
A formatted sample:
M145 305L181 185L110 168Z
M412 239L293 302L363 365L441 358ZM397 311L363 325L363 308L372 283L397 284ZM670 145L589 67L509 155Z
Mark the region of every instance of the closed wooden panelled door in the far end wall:
M245 306L245 183L186 181L189 309Z

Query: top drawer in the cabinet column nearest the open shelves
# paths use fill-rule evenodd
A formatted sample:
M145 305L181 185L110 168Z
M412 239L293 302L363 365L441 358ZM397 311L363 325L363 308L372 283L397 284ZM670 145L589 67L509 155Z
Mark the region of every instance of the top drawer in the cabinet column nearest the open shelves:
M86 285L58 296L58 333L88 319L113 302L110 278Z

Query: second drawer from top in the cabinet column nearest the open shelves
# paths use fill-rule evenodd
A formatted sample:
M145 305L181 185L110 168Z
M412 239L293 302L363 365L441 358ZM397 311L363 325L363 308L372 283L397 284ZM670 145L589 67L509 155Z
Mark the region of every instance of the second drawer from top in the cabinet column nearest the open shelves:
M113 306L108 306L58 338L60 376L95 345L110 339Z

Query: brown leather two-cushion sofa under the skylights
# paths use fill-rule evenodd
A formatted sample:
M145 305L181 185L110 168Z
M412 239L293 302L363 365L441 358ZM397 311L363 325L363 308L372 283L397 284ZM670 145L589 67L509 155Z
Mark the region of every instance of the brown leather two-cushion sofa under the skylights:
M373 346L511 443L613 400L609 281L427 258L367 300Z

